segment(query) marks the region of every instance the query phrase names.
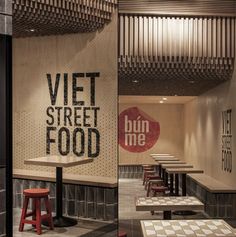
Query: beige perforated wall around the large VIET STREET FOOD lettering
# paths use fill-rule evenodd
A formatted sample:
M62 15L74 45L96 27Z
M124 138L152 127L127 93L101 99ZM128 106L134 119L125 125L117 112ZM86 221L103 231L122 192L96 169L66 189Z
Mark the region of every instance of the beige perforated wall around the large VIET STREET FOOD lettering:
M14 168L54 172L54 168L24 165L24 160L46 155L46 108L50 97L46 73L100 72L96 79L96 106L101 151L93 163L65 169L68 173L117 175L117 18L95 33L14 39ZM84 81L83 81L84 80ZM78 93L89 105L90 85L81 79ZM59 85L58 106L63 106ZM71 84L69 84L71 106ZM70 127L73 130L74 127ZM86 142L86 145L88 142ZM55 145L51 154L58 154ZM73 155L71 153L71 155ZM86 156L86 155L85 155Z

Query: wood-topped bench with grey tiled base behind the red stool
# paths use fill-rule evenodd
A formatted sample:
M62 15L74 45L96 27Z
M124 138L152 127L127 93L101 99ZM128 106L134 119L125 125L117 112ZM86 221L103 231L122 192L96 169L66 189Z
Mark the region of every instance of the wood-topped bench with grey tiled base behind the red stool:
M117 180L75 174L63 176L63 214L103 221L117 220ZM55 212L55 173L34 170L13 170L13 207L22 208L23 190L48 188L52 211Z

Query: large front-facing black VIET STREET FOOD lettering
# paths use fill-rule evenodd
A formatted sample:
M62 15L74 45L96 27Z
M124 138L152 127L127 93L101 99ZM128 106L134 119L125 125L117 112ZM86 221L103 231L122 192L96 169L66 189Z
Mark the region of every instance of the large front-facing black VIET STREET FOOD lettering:
M100 153L100 133L97 129L100 107L96 106L96 78L100 73L57 73L55 79L47 74L51 105L46 114L46 153L51 154L52 146L63 155L98 157ZM71 80L70 80L71 79ZM81 80L89 83L89 101L83 99L85 88ZM70 85L71 83L71 85ZM63 86L63 104L59 104L58 94ZM71 88L71 100L69 90ZM71 106L67 106L71 104ZM72 128L72 129L71 129Z

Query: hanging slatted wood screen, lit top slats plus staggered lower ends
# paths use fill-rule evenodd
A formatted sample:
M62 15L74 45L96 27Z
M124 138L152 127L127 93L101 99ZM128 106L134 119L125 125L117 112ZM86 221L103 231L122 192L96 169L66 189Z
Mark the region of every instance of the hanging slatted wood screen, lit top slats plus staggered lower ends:
M235 29L234 17L120 14L120 80L228 80Z

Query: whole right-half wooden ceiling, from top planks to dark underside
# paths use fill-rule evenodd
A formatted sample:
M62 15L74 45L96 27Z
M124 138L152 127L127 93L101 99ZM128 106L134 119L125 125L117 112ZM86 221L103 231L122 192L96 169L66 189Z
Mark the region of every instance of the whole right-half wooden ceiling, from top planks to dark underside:
M187 2L208 14L191 15ZM235 58L236 1L214 3L121 0L119 8L126 13L119 14L119 94L196 96L229 80ZM172 15L140 14L139 9L148 8L168 9ZM176 14L184 9L184 16Z

